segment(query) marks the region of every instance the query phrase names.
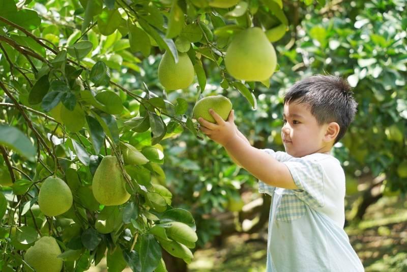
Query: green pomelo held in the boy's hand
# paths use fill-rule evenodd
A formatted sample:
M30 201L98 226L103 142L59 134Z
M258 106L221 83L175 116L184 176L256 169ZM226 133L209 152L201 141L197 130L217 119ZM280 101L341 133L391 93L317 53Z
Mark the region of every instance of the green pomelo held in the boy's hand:
M202 117L211 123L216 123L215 119L209 113L210 108L226 121L232 110L232 103L229 98L224 97L223 95L204 97L196 102L192 110L194 118L198 120L199 117Z

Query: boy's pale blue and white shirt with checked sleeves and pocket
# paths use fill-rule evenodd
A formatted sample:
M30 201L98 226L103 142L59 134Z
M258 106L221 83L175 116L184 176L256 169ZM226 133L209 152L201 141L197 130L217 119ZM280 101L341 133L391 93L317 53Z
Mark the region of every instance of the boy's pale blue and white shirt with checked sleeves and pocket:
M296 158L263 151L287 166L299 188L259 180L258 192L272 197L267 272L364 271L343 230L345 175L340 162L322 153Z

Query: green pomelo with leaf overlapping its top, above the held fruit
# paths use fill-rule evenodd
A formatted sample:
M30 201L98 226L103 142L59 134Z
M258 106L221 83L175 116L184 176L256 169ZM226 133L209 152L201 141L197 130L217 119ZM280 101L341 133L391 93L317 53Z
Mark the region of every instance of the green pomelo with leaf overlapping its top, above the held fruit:
M158 80L167 90L185 89L194 80L194 67L187 53L178 54L178 63L165 52L158 65Z

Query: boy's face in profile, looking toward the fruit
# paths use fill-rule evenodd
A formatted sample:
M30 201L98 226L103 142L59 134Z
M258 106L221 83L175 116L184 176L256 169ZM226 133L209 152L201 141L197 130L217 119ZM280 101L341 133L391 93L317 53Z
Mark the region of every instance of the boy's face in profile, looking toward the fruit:
M308 106L307 103L298 104L296 101L284 105L281 139L285 152L293 157L325 153L331 149L324 141L328 125L319 126Z

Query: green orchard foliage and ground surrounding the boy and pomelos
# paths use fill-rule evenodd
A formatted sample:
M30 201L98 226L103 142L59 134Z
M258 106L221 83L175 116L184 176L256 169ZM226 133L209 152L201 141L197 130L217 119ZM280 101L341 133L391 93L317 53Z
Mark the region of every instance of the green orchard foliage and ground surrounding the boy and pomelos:
M213 7L219 2L230 7ZM270 197L199 132L192 108L201 97L222 94L254 147L283 150L284 91L329 73L347 78L359 103L334 148L347 177L345 230L366 271L405 271L406 6L2 0L0 269L31 271L26 250L52 236L64 271L264 270ZM224 56L234 36L254 26L272 42L278 64L268 80L245 82L228 73ZM167 90L159 82L166 51L175 60L187 53L195 73L188 88ZM125 143L147 164L125 165ZM106 215L92 194L106 155L127 173L131 197L117 206L119 215ZM57 216L38 206L50 176L64 180L73 196ZM95 228L101 216L117 223L111 232ZM171 222L184 229L169 239ZM185 237L191 232L194 242ZM171 255L165 241L182 250Z

